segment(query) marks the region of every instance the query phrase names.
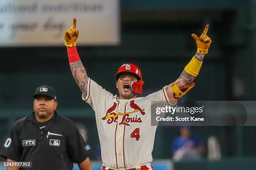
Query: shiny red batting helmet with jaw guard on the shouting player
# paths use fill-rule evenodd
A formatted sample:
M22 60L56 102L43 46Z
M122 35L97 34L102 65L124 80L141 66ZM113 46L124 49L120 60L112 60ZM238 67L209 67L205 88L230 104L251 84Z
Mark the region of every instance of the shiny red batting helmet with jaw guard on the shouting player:
M142 93L142 86L144 82L142 81L141 70L139 67L131 63L123 64L121 67L119 67L117 73L115 74L115 79L118 80L120 74L123 72L132 73L136 76L138 82L131 83L131 90L135 93Z

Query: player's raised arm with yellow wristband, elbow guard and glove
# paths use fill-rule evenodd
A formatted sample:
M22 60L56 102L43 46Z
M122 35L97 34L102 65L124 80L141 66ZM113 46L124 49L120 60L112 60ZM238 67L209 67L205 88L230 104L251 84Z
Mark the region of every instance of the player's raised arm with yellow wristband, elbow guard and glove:
M193 81L199 73L202 60L204 59L205 54L207 54L208 48L212 42L210 37L206 35L208 28L209 25L206 25L200 37L196 34L191 35L197 44L197 52L189 64L184 68L179 78L166 87L166 93L170 101L179 99L195 86L195 82Z

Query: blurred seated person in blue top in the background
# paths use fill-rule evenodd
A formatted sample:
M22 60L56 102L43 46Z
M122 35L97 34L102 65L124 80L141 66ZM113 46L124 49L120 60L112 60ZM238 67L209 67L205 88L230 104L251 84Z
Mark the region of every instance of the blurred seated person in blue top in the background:
M193 135L189 126L182 126L180 136L172 143L173 160L201 160L204 151L199 135Z

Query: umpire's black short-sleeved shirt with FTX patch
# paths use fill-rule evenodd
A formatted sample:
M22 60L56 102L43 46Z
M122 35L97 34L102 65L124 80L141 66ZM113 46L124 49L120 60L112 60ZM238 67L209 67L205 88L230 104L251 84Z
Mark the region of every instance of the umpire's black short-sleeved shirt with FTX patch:
M0 155L15 161L32 161L20 170L72 170L90 149L74 123L56 112L46 123L38 123L34 112L15 122Z

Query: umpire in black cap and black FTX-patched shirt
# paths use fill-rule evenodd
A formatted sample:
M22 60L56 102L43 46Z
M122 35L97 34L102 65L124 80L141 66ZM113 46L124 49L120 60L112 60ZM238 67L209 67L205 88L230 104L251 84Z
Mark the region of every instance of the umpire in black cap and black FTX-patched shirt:
M56 113L56 92L49 86L36 88L34 112L15 122L0 155L7 162L32 161L32 168L12 170L92 170L87 145L74 123Z

